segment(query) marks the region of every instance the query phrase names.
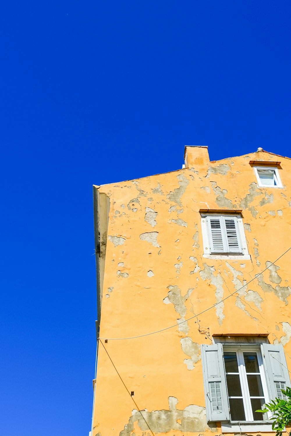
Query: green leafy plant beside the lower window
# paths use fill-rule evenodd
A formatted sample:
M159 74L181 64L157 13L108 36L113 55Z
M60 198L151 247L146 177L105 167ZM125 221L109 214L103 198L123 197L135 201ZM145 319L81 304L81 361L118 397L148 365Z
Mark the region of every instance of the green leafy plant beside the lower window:
M270 419L273 419L272 430L276 432L276 436L282 436L284 427L291 422L291 388L281 389L282 393L287 397L285 400L275 398L267 403L265 409L256 410L256 412L272 412Z

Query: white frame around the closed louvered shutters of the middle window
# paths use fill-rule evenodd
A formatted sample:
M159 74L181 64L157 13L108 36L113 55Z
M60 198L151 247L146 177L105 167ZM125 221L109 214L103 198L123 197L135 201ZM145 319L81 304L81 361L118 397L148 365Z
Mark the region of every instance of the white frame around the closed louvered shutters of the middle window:
M236 229L237 229L237 237L240 239L240 245L242 248L241 254L227 253L222 252L219 254L213 254L211 252L211 243L209 237L209 226L207 217L236 217ZM202 213L201 214L201 229L202 229L202 240L203 240L203 249L204 254L203 257L207 259L250 259L250 255L246 245L246 235L243 228L243 219L239 214L219 214L219 213Z

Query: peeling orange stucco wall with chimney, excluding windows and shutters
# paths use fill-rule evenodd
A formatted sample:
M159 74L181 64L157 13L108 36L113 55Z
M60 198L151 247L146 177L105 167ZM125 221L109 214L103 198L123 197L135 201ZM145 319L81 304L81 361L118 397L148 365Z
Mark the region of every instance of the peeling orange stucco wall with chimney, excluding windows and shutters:
M259 188L250 161L281 162L284 188ZM209 162L206 148L189 147L185 163L99 187L110 198L100 337L108 338L102 342L117 371L160 436L222 433L220 423L205 422L199 349L212 335L267 335L284 345L291 369L291 251L239 290L291 245L291 160L258 151ZM203 257L202 209L242 211L250 260ZM235 290L178 328L177 320ZM151 435L133 399L99 344L92 436ZM190 424L185 416L192 416Z

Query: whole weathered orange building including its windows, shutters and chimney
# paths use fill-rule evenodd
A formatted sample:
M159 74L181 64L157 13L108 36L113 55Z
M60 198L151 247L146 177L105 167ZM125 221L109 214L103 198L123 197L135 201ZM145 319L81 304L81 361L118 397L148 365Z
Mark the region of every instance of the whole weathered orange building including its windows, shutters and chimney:
M290 384L291 160L186 146L94 186L94 215L92 436L274 434L255 410Z

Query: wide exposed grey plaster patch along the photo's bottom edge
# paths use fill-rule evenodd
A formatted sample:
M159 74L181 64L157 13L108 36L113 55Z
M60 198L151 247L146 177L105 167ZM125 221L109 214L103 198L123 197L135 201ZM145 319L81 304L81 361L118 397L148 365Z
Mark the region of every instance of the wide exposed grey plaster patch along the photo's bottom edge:
M176 408L178 404L177 398L169 397L168 402L169 410L153 410L149 412L145 409L139 412L134 409L128 423L124 426L124 430L119 433L119 436L132 436L131 432L134 430L134 422L137 422L140 430L144 432L147 432L149 427L154 433L167 433L171 430L184 433L199 433L206 430L217 432L215 423L207 423L205 407L191 404L183 410L178 410Z

